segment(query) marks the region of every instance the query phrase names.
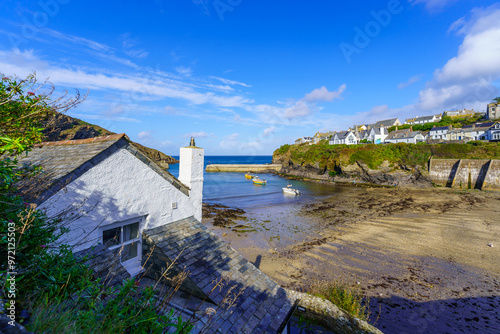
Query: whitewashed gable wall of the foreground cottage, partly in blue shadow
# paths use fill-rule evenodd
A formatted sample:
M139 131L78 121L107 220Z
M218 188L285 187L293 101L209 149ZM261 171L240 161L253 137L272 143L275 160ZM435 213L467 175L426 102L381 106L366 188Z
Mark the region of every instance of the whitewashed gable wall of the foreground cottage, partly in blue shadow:
M183 157L181 155L181 161ZM199 160L197 157L194 164L197 168ZM201 181L198 177L191 183L196 195L189 197L129 151L120 149L49 198L40 208L46 209L51 216L73 207L75 212L70 217L81 215L68 226L70 232L60 240L76 244L76 252L99 243L102 227L132 218L145 217L141 234L143 229L190 216L201 221L203 162L200 170ZM176 209L172 208L172 203L176 203Z

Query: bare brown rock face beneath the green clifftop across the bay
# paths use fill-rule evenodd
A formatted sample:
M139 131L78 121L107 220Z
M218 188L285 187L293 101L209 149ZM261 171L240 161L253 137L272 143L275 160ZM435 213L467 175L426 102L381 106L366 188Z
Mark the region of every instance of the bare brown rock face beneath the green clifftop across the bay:
M335 182L357 182L378 185L430 186L431 180L427 171L419 167L405 165L393 166L384 162L378 169L370 169L362 162L351 165L335 165L332 170L319 163L296 164L290 159L277 158L273 163L281 163L281 174L293 175L306 179Z

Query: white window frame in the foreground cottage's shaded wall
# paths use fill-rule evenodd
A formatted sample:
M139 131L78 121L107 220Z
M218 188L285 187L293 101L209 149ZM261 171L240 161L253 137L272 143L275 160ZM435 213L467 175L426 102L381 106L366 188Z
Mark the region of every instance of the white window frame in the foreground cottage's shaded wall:
M146 221L146 216L140 216L140 217L131 218L131 219L127 219L124 221L115 222L115 223L112 223L109 225L102 226L100 228L100 231L99 231L100 238L101 238L101 244L104 244L104 231L112 230L112 229L115 229L117 227L120 227L120 244L116 245L116 246L109 246L108 249L110 251L114 251L117 249L119 250L120 248L122 248L126 245L130 245L134 242L137 242L137 256L136 257L122 262L121 254L119 255L120 256L120 263L125 267L125 269L132 276L135 276L136 274L138 274L142 268L142 230L144 229L145 221ZM123 235L124 228L123 227L127 226L127 225L132 225L135 223L139 223L138 237L135 239L124 241L124 235Z

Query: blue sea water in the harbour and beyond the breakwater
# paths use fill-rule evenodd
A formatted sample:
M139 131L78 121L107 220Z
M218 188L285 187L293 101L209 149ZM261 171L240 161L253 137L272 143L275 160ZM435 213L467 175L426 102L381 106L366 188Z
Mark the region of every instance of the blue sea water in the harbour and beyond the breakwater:
M179 159L178 156L174 158ZM205 156L205 167L208 164L269 164L272 156ZM170 165L169 172L179 176L179 165ZM304 181L289 181L274 174L257 173L267 185L254 185L246 179L244 173L207 173L204 174L203 201L220 203L229 207L250 209L303 202L328 196L341 191L339 187L329 184L318 184ZM292 184L301 192L300 195L284 194L283 187Z

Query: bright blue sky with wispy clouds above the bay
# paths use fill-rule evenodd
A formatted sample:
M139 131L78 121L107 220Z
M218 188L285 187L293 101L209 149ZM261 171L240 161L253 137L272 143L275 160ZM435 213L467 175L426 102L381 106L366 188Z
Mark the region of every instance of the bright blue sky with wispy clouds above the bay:
M500 95L494 1L23 0L0 72L89 91L69 115L171 155L271 154L317 131Z

